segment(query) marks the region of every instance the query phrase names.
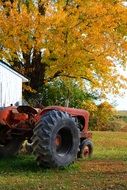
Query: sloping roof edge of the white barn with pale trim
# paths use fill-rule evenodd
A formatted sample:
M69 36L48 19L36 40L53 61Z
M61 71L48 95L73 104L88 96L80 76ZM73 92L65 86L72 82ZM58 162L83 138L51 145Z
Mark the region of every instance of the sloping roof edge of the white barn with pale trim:
M22 78L22 81L23 81L23 82L28 82L28 81L29 81L28 78L26 78L25 76L23 76L21 73L17 72L15 69L13 69L13 68L11 67L10 64L4 62L3 60L0 60L0 65L1 65L2 67L6 68L7 70L9 70L10 72L14 73L15 75L17 75L18 77Z

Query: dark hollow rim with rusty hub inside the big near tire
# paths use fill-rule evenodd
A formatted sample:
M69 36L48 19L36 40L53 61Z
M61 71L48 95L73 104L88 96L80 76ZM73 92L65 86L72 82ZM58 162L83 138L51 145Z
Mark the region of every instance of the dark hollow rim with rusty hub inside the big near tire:
M58 156L65 156L73 147L73 136L68 128L58 131L55 138L56 153Z

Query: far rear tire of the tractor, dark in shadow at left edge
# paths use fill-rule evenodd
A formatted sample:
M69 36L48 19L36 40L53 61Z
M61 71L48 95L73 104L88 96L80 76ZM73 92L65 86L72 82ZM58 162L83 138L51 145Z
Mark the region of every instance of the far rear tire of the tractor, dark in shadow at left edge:
M12 139L6 145L0 145L0 158L11 157L18 154L19 149L22 146L23 140Z

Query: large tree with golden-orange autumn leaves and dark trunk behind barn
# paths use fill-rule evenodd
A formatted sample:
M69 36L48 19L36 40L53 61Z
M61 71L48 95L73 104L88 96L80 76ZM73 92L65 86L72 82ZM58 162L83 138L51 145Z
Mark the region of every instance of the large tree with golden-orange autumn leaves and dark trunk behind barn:
M127 8L121 0L0 1L0 58L39 88L75 78L118 93L126 79Z

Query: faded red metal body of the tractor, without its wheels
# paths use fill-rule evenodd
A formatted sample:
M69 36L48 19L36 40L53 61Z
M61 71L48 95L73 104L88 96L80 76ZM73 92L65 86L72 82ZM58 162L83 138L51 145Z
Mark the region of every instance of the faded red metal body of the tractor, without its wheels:
M43 114L50 110L58 110L67 112L72 117L81 119L82 130L80 138L92 138L92 133L88 132L89 113L83 109L68 108L62 106L49 106L43 110L36 110L30 106L19 106L19 107L6 107L0 110L0 124L5 126L7 131L10 129L10 134L17 135L21 133L21 136L27 136L30 130L32 133L35 123L42 117ZM22 131L22 132L21 132ZM29 135L28 135L29 136Z

